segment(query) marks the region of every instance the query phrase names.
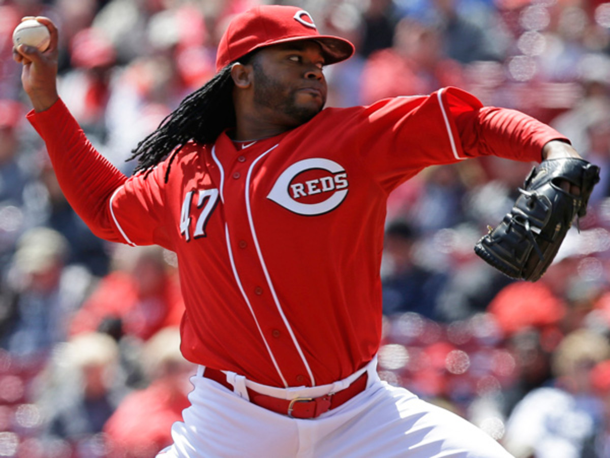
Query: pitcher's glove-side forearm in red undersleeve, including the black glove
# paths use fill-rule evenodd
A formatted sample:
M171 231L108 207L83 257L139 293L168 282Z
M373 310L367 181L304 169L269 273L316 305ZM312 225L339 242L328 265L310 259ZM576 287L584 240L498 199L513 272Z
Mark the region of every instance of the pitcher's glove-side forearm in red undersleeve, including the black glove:
M509 277L537 281L553 262L573 220L586 214L599 169L567 138L526 114L500 108L475 113L466 128L479 135L490 153L515 159L523 149L525 158L540 162L525 178L510 213L489 228L475 252Z

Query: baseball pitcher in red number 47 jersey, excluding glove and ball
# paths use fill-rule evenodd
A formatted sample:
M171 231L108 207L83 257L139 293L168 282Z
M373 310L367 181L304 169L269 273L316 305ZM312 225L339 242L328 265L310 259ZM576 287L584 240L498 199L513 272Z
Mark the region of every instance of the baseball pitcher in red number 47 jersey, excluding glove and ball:
M353 45L264 5L232 19L217 75L139 144L127 178L59 98L57 29L38 20L50 48L14 56L63 192L99 237L178 255L181 350L199 368L160 457L509 457L378 378L386 199L435 164L578 157L567 139L456 88L324 108L323 68Z

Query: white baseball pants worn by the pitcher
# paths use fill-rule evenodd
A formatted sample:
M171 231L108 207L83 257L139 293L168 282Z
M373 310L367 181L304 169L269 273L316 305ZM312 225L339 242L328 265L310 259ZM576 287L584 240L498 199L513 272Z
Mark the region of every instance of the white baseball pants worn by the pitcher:
M199 370L174 443L157 458L511 458L472 423L381 381L375 364L367 370L364 392L313 420L256 406L243 383L231 392Z

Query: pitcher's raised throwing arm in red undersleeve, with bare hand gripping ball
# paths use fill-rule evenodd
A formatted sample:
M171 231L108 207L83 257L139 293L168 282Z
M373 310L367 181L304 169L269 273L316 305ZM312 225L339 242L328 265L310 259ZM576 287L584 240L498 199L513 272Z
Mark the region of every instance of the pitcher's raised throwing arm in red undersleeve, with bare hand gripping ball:
M51 33L49 48L45 52L23 44L13 48L13 58L23 64L21 82L34 107L28 119L45 141L63 194L76 213L97 236L126 242L113 222L109 202L127 177L95 150L60 100L57 28L48 18L36 19Z

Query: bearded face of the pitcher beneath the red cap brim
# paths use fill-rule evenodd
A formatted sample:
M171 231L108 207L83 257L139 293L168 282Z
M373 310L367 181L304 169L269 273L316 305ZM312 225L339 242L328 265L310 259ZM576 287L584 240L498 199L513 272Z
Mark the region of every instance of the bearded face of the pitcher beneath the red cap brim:
M278 44L254 58L254 103L285 125L309 121L326 103L324 57L315 41Z

